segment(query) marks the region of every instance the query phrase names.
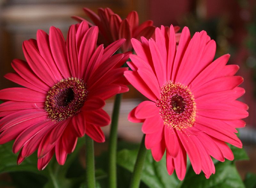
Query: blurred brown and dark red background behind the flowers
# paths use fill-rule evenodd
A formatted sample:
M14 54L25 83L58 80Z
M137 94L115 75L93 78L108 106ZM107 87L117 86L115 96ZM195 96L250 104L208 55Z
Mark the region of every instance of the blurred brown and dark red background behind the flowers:
M240 138L250 157L238 161L242 178L247 172L256 173L256 1L255 0L0 0L0 89L16 87L3 75L13 72L11 61L24 59L22 42L36 38L37 29L48 32L50 26L59 27L64 36L68 27L76 23L70 16L85 18L82 8L97 12L109 7L122 18L135 10L140 23L153 20L155 26L170 24L188 26L193 35L205 30L217 43L216 57L231 54L229 64L237 64L237 73L244 77L245 95L240 98L249 106L246 128L240 129ZM139 142L140 124L127 121L127 114L144 98L132 87L124 94L118 130L120 140ZM113 98L105 107L111 114ZM104 129L108 135L108 127ZM96 154L107 150L108 143L96 144Z

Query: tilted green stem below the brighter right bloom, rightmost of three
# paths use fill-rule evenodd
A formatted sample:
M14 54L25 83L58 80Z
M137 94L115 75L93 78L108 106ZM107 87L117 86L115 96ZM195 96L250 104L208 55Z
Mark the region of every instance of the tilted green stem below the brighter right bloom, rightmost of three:
M147 149L145 147L145 135L143 135L140 143L140 149L137 155L137 160L133 168L130 188L138 188L140 186L140 177L141 177L144 161L146 158L146 153L147 153Z

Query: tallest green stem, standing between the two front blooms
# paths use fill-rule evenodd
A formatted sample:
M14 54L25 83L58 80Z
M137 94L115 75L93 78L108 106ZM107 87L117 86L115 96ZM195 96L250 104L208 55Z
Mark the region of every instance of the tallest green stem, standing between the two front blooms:
M111 128L108 146L108 187L116 188L116 148L117 148L117 125L122 94L117 94L114 102Z

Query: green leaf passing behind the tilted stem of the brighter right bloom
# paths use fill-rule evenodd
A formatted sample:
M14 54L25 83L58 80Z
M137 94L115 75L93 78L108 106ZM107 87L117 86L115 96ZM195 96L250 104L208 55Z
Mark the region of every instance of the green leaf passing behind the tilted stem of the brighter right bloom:
M137 153L137 150L127 149L118 152L117 164L132 172L137 158ZM144 162L141 180L150 188L177 187L180 184L175 173L172 176L168 175L166 170L165 154L161 161L156 162L149 150L147 151Z

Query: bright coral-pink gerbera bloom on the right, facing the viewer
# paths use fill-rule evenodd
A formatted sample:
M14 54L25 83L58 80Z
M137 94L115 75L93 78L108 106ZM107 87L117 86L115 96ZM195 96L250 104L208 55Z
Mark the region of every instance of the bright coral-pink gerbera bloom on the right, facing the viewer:
M176 170L180 180L186 173L187 154L196 174L206 178L215 173L212 157L233 160L227 143L241 148L236 128L245 126L248 106L236 99L244 94L243 82L234 76L237 65L226 65L229 55L213 61L216 44L205 31L190 39L184 27L176 48L174 28L156 28L156 41L132 39L137 55L127 62L127 80L151 101L135 107L128 119L144 122L145 146L153 158L161 160L166 151L166 167ZM213 62L212 62L213 61Z

